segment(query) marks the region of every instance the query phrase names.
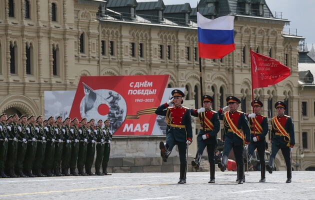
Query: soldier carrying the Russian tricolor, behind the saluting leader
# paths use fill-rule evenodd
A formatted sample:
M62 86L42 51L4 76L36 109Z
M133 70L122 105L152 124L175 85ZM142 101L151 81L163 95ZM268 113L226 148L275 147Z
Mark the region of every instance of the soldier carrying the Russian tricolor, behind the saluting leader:
M191 109L191 115L199 117L201 129L197 136L198 151L195 160L191 161L191 165L198 170L201 156L206 147L208 153L208 161L210 163L210 180L208 183L215 182L215 160L214 151L216 147L216 134L220 129L220 122L216 111L211 109L213 98L209 95L202 96L203 107L200 109Z

